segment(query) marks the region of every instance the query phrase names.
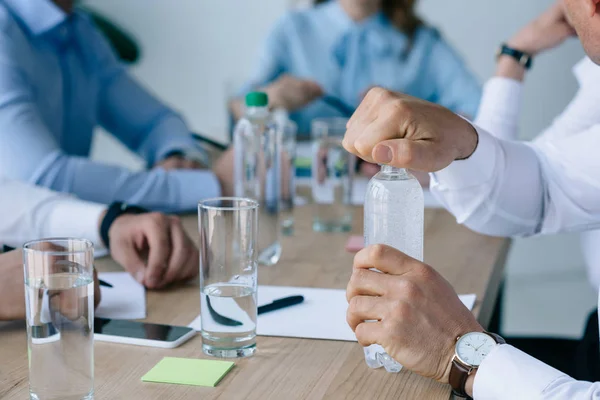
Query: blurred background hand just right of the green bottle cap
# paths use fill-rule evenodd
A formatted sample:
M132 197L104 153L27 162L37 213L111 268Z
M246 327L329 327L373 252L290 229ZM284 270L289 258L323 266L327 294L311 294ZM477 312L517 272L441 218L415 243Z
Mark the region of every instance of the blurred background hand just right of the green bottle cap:
M275 82L263 88L269 95L272 108L282 107L294 111L311 103L323 95L323 89L317 82L282 75Z

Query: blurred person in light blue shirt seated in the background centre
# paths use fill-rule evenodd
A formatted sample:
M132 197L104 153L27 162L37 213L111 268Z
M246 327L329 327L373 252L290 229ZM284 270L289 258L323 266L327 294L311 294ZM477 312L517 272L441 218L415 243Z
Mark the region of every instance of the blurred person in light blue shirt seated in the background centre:
M314 118L342 116L323 94L356 108L373 86L476 115L477 79L439 32L415 15L416 0L316 2L276 24L241 94L265 90L272 107L291 111L300 135L310 134ZM239 100L231 111L240 117Z

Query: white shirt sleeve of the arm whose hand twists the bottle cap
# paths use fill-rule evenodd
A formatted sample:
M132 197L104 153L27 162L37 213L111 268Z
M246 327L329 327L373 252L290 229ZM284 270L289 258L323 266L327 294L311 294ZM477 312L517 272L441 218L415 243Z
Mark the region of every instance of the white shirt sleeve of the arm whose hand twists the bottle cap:
M469 159L432 174L432 192L459 223L497 236L600 227L600 126L540 144L478 132Z

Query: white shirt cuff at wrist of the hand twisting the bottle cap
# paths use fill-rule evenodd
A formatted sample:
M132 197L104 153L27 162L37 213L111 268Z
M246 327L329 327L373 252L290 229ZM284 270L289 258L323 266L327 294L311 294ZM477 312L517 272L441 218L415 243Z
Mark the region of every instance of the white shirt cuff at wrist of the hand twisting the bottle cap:
M498 139L473 125L479 135L477 148L466 160L454 161L441 171L431 174L432 188L459 190L489 181L496 167Z

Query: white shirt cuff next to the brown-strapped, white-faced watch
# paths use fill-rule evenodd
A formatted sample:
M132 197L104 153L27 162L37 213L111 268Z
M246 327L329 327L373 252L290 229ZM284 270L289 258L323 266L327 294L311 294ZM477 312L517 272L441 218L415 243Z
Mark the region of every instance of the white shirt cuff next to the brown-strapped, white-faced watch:
M483 360L473 385L474 399L539 399L562 372L522 351L499 345Z

